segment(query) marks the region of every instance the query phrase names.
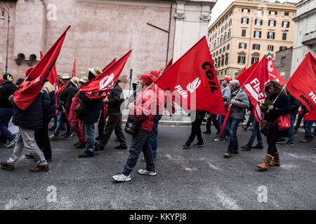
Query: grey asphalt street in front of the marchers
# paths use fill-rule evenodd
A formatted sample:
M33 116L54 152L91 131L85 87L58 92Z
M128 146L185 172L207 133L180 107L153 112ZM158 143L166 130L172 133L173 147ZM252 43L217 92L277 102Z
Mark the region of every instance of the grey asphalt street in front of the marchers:
M138 174L145 168L142 154L125 183L112 180L129 155L114 149L114 134L94 158L78 157L84 149L74 148L77 137L51 141L48 172L28 172L36 164L25 158L25 150L13 172L0 169L0 209L316 209L316 142L299 143L303 130L295 135L294 146L277 146L282 165L268 172L256 168L265 157L265 137L263 150L223 158L228 141L213 141L215 132L203 134L203 148L182 149L190 127L160 126L157 176ZM251 131L239 127L237 134L240 147ZM130 144L131 136L126 139ZM0 160L12 152L0 148Z

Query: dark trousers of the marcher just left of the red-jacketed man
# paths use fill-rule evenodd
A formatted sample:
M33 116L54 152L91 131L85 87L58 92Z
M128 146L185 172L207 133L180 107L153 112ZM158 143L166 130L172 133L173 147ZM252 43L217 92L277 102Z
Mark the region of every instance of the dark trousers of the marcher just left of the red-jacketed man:
M113 130L117 135L121 146L126 146L125 135L123 129L121 128L121 113L110 113L110 116L107 119L107 125L105 126L105 132L100 140L100 145L105 146L107 144Z

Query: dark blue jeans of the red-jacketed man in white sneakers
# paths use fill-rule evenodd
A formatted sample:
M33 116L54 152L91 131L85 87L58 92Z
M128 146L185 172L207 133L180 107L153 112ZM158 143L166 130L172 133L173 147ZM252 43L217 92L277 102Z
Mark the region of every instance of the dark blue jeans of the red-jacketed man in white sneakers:
M133 168L136 166L140 153L143 151L146 162L146 169L149 172L154 171L154 160L152 159L152 148L150 146L150 132L145 130L138 130L133 135L131 146L129 146L129 158L127 158L126 165L122 174L128 176L131 174Z

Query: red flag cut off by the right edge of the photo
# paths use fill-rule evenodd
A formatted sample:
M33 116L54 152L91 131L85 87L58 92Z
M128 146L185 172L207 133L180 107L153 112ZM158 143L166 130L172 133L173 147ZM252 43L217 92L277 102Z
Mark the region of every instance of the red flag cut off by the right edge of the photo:
M308 52L301 64L287 81L287 90L298 99L308 111L316 106L316 59Z

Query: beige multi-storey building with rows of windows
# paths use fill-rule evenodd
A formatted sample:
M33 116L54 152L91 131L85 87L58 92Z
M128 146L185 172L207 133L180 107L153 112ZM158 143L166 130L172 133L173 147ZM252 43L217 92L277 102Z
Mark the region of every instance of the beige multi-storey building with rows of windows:
M293 3L235 1L209 27L209 48L218 78L235 78L264 55L293 46Z

